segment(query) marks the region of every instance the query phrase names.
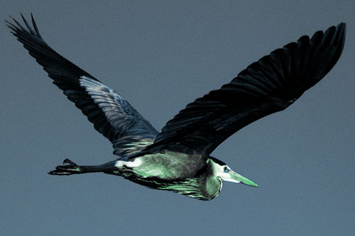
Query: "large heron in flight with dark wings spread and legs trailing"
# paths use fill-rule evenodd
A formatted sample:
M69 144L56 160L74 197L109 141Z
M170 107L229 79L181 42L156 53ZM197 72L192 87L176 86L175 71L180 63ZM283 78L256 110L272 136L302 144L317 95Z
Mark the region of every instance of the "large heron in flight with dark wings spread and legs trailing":
M32 26L11 18L11 33L43 66L94 128L111 141L116 159L84 166L65 159L48 174L103 172L153 189L211 200L223 181L258 186L210 154L255 120L282 111L317 84L339 60L346 24L302 36L241 71L229 84L187 104L159 133L121 95L53 50Z

